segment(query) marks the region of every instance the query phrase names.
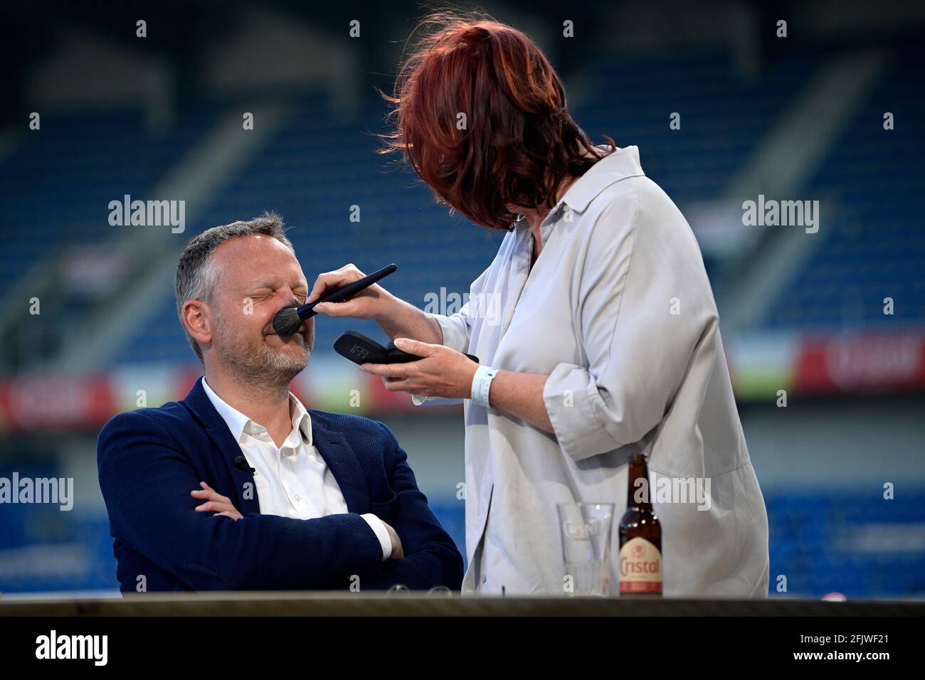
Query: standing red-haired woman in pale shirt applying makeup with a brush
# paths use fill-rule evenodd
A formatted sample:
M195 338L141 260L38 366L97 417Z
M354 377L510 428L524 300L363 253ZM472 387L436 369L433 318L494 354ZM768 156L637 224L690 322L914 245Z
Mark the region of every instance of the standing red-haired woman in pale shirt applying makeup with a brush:
M425 314L380 286L315 310L375 319L424 357L363 366L389 390L465 400L463 590L567 591L557 503L612 502L619 519L627 457L642 451L673 482L651 499L664 593L765 597L767 514L684 216L635 146L587 138L523 32L446 14L423 29L389 97L384 151L439 203L506 235L458 314ZM322 274L309 301L362 276ZM706 493L680 499L679 480Z

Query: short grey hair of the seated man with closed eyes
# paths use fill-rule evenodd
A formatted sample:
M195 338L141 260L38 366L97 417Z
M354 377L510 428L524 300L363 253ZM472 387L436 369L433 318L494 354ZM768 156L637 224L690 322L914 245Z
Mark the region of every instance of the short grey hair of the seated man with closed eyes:
M179 257L177 277L174 278L177 315L187 340L190 340L192 351L196 352L201 362L203 361L203 350L199 343L193 340L186 325L183 324L183 304L188 300L202 300L203 303L211 304L213 292L218 283L218 267L212 253L215 253L216 248L225 241L238 236L257 235L271 236L290 251L295 252L291 241L286 238L282 217L273 212L265 212L262 216L254 217L248 222L232 222L221 227L206 229L187 244L183 249L183 254Z

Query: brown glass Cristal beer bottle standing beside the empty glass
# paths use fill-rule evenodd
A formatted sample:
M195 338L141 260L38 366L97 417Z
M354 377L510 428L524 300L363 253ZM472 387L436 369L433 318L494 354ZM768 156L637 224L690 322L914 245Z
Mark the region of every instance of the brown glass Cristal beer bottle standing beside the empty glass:
M620 594L661 595L661 525L652 511L646 456L632 453L620 520Z

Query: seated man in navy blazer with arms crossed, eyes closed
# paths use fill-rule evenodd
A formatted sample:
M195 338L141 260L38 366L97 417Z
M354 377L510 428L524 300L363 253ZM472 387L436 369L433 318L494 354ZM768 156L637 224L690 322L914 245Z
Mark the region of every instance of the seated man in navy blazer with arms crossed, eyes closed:
M120 588L458 589L462 557L388 427L290 392L314 318L288 338L273 329L308 295L282 220L204 231L175 289L205 375L182 402L117 415L98 441Z

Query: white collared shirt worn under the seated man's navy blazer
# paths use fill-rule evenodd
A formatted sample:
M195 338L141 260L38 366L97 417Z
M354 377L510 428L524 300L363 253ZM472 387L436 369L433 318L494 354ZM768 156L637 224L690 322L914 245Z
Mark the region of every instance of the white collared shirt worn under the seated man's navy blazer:
M290 392L292 431L277 448L266 428L232 408L219 397L203 377L209 401L231 430L247 463L256 472L253 481L261 514L292 519L315 519L349 512L338 480L312 444L312 417ZM222 489L216 488L218 493ZM392 540L382 520L373 513L361 514L382 546L382 560L392 554Z

